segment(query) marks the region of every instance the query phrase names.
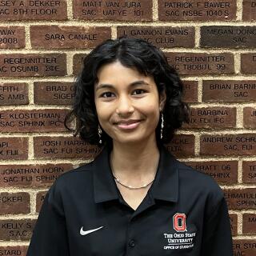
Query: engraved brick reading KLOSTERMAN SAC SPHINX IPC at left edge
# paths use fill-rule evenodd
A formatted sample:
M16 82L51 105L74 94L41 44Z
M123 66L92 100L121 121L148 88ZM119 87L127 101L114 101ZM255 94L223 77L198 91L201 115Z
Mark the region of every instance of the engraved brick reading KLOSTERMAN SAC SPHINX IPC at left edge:
M2 132L66 131L64 119L70 110L2 110Z

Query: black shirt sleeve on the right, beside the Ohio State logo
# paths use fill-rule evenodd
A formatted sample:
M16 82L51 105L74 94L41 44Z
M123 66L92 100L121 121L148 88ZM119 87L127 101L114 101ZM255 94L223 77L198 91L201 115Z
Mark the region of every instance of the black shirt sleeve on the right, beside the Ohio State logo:
M205 220L201 256L233 256L230 218L225 198Z

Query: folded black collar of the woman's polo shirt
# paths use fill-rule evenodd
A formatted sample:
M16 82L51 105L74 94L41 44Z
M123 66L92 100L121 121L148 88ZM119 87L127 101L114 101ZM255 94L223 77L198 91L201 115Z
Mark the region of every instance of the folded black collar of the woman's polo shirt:
M107 202L119 198L118 187L110 167L110 147L105 146L92 162L94 201ZM178 161L165 146L160 146L158 170L150 194L153 198L178 202Z

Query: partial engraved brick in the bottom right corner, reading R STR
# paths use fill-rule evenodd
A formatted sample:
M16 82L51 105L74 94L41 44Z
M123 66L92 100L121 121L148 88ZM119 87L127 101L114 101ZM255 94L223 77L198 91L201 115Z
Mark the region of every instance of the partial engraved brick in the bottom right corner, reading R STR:
M233 240L234 256L254 256L256 246L254 239L234 239Z

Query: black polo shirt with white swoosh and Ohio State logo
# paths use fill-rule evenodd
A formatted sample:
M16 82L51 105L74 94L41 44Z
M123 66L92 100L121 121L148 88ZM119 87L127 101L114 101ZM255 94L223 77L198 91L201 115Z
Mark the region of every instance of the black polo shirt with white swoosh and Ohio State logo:
M123 200L105 148L50 187L27 256L231 256L230 220L214 179L164 146L137 210Z

